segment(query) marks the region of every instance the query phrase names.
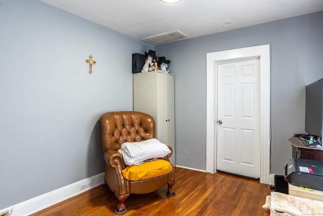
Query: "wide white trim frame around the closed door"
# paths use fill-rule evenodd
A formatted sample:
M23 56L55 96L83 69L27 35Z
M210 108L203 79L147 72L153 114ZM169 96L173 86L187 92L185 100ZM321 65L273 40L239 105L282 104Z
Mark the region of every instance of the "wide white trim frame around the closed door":
M261 45L206 54L206 171L217 172L217 82L218 63L226 60L260 58L260 183L273 184L270 173L270 45Z

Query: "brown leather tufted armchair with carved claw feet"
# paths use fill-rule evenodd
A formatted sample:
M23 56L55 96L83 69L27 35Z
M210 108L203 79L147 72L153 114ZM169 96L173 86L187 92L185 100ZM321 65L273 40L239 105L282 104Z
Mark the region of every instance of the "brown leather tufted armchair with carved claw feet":
M118 152L121 144L155 138L155 121L152 116L137 111L107 112L100 116L100 122L105 161L105 186L109 186L119 200L115 213L126 212L124 202L131 193L147 194L168 184L167 196L176 195L172 189L175 184L174 167L168 174L141 181L128 181L122 174L122 170L127 165L124 163L122 154ZM168 147L173 152L173 149ZM172 153L163 159L169 161L171 155Z

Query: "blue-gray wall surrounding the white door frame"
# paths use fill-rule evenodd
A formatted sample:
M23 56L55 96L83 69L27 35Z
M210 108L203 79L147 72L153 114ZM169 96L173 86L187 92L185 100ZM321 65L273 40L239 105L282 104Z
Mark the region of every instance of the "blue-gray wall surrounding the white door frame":
M272 54L271 171L284 173L288 139L305 133L305 85L323 77L323 12L154 47L175 73L177 165L205 170L206 53L264 44Z

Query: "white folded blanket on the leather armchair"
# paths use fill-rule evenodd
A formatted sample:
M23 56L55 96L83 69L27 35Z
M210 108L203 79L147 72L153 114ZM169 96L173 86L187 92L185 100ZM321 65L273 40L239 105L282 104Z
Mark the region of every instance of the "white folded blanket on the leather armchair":
M123 143L118 151L122 154L127 165L137 165L142 161L151 158L161 158L171 153L171 150L164 143L156 139L149 139L141 142Z

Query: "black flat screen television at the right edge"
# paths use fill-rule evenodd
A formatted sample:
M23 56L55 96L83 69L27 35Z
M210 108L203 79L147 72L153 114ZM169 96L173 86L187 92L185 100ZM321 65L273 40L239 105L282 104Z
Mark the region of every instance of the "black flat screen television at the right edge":
M322 138L323 78L306 85L305 131Z

